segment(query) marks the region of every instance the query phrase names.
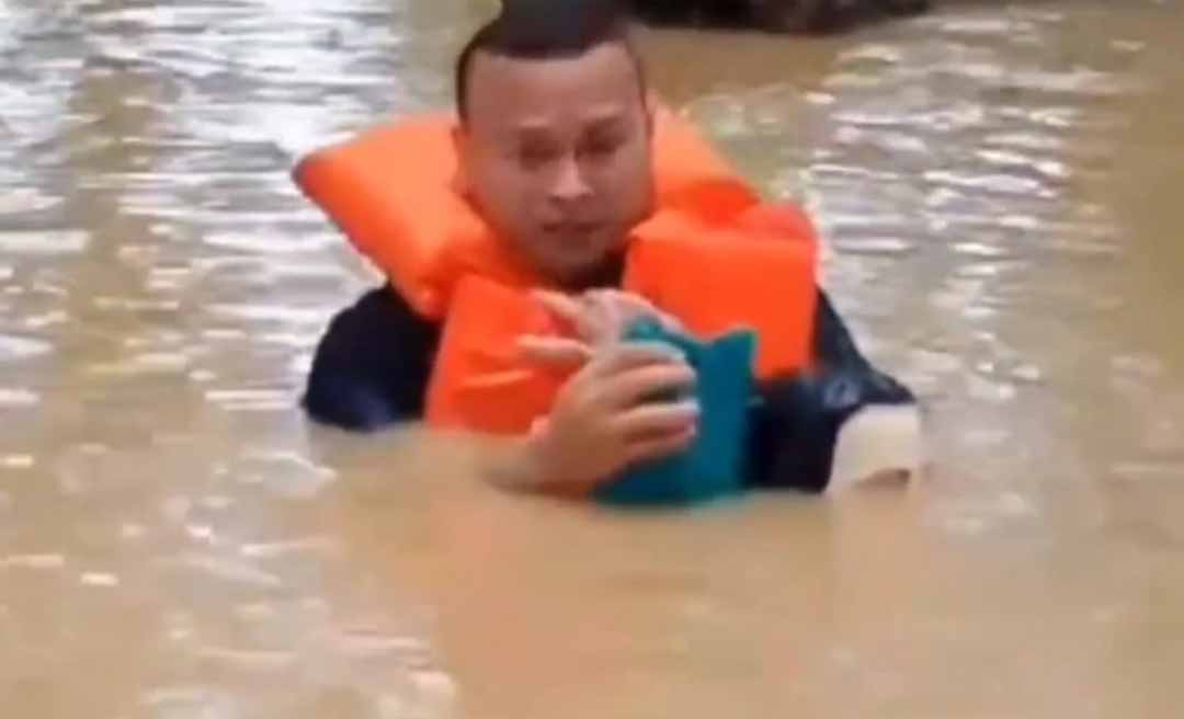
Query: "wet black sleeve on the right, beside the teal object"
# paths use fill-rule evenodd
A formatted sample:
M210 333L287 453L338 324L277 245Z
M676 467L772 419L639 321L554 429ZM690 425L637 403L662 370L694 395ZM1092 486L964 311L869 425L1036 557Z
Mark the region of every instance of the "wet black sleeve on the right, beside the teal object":
M907 387L863 357L822 289L813 333L813 367L761 383L753 399L753 487L822 492L844 422L868 405L915 402Z

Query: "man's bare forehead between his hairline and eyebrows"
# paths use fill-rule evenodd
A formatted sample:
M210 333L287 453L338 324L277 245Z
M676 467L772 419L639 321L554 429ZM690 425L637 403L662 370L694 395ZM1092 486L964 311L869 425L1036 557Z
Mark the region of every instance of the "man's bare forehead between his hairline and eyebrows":
M498 131L628 115L641 105L639 83L619 43L546 59L478 52L469 76L469 122L475 131Z

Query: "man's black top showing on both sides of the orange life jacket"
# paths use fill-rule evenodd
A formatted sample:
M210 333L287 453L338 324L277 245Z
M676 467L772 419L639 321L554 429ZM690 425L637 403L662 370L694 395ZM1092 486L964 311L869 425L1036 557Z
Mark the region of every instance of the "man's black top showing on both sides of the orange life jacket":
M391 287L339 313L322 338L304 407L326 424L374 430L417 419L439 342L439 326ZM761 383L753 403L749 467L754 487L826 487L838 430L871 404L908 404L912 392L860 353L826 294L818 290L815 370Z

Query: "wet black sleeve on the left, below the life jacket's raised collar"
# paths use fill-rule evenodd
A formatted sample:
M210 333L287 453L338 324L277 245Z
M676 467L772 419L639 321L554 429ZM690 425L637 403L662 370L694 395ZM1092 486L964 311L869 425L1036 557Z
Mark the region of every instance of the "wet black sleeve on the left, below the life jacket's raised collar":
M390 285L372 290L329 323L313 358L304 409L324 424L374 430L417 419L439 326Z

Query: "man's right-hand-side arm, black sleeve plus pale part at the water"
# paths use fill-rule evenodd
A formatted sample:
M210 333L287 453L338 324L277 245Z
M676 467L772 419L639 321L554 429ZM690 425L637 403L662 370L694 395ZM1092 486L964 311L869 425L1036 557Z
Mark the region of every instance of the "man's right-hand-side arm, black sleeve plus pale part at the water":
M817 307L813 368L758 389L749 447L754 487L823 492L832 481L858 479L836 476L839 464L842 474L908 471L915 464L913 393L871 366L821 289ZM858 445L869 442L889 456L851 458L867 454Z

